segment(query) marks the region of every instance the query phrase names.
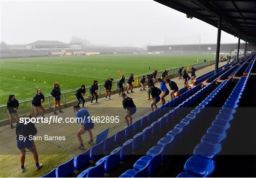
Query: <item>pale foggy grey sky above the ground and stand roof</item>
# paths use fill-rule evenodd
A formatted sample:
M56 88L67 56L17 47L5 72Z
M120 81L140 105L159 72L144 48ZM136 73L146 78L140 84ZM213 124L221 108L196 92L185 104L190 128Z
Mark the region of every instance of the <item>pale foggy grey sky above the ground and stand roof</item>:
M1 0L1 41L8 44L78 36L96 45L145 47L164 44L165 36L166 44L199 43L199 34L201 43L217 41L217 28L153 0ZM222 31L222 43L237 41Z

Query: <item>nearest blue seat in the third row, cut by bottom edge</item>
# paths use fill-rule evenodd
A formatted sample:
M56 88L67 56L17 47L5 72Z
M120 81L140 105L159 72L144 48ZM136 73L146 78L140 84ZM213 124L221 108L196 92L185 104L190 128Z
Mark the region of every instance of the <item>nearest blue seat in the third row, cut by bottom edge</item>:
M146 166L138 171L127 170L119 178L146 178L148 177L148 167L150 161L147 162Z

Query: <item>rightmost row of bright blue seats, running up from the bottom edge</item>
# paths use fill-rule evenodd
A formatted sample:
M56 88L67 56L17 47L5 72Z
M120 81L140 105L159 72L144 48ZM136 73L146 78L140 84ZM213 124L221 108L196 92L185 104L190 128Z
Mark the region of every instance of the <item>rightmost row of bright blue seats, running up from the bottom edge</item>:
M229 79L230 80L230 79ZM226 138L226 130L230 127L230 121L236 112L239 100L247 84L248 76L242 77L235 86L229 98L219 111L207 134L201 139L191 156L184 165L186 173L178 177L209 177L215 170L214 158L221 151L221 142Z

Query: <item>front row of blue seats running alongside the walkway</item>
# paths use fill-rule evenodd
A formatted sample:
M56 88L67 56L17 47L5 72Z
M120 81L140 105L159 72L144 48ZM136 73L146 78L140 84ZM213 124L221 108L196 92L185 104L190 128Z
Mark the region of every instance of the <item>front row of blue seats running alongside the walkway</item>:
M52 170L51 172L44 175L43 177L68 177L68 176L72 175L74 169L81 169L82 167L86 166L89 163L90 159L97 159L100 155L103 154L103 151L109 150L111 147L113 147L113 145L119 144L120 142L124 141L124 138L128 138L129 136L132 136L134 133L137 133L141 129L141 127L145 127L155 117L157 117L157 116L159 117L160 113L164 113L168 108L174 107L179 102L181 102L183 99L187 98L192 93L195 93L196 91L198 91L200 88L201 88L201 86L197 85L196 87L192 88L191 90L181 94L179 97L175 98L173 101L166 103L164 106L160 107L159 109L155 110L154 112L150 113L149 115L137 120L133 125L126 127L125 129L119 131L118 133L116 133L113 136L110 136L105 141L102 141L100 144L94 145L91 149L87 150L86 152L84 152L82 154L79 154L77 157L71 159L70 161L59 165L57 169ZM159 122L159 124L160 124L160 122ZM158 124L156 124L156 126L157 125ZM161 124L161 127L163 127L163 124ZM152 128L152 131L153 131L153 133L156 131L155 127ZM146 133L148 133L148 132L149 131L147 131ZM139 140L141 138L141 135L142 134L139 133L136 136L134 136L133 139L135 140L135 142L133 143L132 151L136 151L136 149L139 147L138 143L143 143L146 141L146 135L145 135L145 136L143 136L144 137L143 142L140 142L140 141L137 142L137 140ZM130 140L128 140L128 141L130 141ZM127 142L125 142L123 144L123 146L126 145ZM126 146L125 146L125 148L126 148ZM111 152L110 155L113 153L116 153L116 150ZM120 151L120 153L121 153L121 151ZM108 155L108 156L110 156L110 155Z

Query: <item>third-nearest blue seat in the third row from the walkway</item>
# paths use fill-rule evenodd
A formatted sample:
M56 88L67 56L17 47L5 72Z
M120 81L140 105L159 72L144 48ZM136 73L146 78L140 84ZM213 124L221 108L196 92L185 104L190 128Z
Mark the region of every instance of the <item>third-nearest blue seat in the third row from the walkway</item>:
M157 142L158 146L161 146L164 148L163 154L162 154L162 161L164 161L168 157L168 155L170 155L170 153L172 152L174 147L173 139L174 137L171 138L171 137L165 136Z

